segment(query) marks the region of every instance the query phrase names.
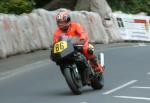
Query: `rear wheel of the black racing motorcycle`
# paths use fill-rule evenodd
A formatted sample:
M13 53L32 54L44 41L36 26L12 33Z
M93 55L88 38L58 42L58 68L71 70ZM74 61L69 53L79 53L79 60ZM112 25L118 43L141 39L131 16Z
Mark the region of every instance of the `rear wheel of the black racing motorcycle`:
M104 76L101 74L100 76L95 76L91 81L91 86L93 89L102 89L104 87Z

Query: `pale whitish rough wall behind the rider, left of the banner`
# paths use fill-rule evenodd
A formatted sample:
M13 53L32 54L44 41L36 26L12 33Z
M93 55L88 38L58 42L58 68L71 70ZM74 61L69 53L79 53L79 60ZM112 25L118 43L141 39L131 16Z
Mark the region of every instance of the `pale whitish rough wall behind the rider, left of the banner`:
M48 48L56 29L57 11L35 10L20 16L0 14L0 58L36 49ZM89 40L100 43L122 41L120 35L107 33L111 28L103 26L101 17L93 12L71 12L73 21L82 24ZM112 26L109 21L106 25Z

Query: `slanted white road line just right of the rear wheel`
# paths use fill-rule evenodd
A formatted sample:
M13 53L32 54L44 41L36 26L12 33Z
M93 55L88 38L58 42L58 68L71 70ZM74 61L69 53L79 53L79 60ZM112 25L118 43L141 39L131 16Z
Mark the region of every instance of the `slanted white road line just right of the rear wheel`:
M132 80L132 81L130 81L130 82L124 84L124 85L121 85L121 86L119 86L119 87L117 87L117 88L114 88L114 89L112 89L112 90L109 90L108 92L105 92L105 93L103 93L103 94L104 94L104 95L111 94L111 93L113 93L113 92L115 92L115 91L117 91L117 90L120 90L120 89L122 89L122 88L124 88L124 87L127 87L127 86L129 86L129 85L131 85L131 84L133 84L133 83L135 83L135 82L137 82L137 80Z

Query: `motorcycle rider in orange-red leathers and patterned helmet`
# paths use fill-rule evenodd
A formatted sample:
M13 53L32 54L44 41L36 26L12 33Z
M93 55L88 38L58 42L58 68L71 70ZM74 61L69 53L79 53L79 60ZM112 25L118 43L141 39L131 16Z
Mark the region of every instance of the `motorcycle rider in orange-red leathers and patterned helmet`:
M86 59L90 61L91 66L95 69L97 73L103 73L103 67L101 66L101 64L98 63L96 55L94 54L94 48L88 43L88 35L83 27L78 23L72 22L69 12L67 12L66 10L60 11L57 14L56 22L58 28L54 33L53 43L58 42L61 35L78 37L80 39L80 42L84 44L83 54Z

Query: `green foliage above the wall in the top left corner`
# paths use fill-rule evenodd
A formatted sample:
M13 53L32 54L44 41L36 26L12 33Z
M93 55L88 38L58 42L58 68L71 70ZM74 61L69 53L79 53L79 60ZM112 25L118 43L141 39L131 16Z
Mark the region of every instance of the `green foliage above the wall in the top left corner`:
M31 12L29 0L0 0L0 13L21 14Z

